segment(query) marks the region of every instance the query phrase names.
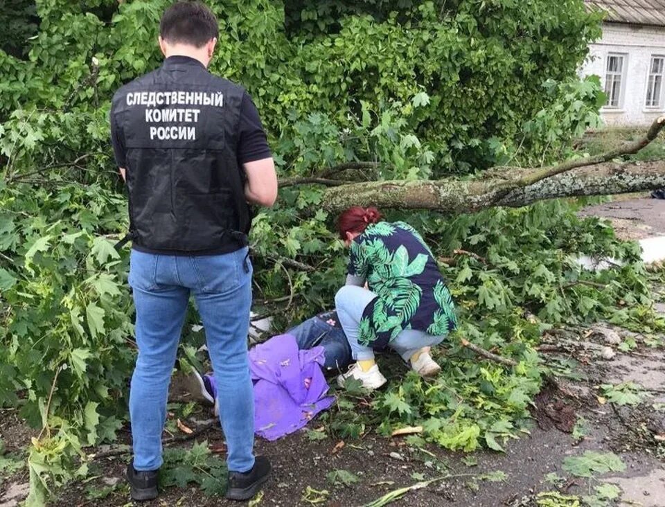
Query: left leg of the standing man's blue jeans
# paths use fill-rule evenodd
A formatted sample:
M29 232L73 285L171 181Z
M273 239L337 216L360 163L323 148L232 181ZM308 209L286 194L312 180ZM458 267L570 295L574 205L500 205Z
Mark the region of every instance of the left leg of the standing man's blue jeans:
M132 250L130 285L136 307L139 356L130 389L134 469L157 470L162 464L161 434L178 341L189 290L173 276L175 258Z

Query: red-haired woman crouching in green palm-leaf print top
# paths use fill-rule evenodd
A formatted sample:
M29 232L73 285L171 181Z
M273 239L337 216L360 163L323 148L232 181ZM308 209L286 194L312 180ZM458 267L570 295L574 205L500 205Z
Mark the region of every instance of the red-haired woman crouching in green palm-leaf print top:
M437 375L429 347L457 328L452 296L423 238L405 222L380 220L376 208L353 206L337 223L351 253L335 308L356 360L337 377L339 386L348 378L366 389L385 384L374 351L387 346L419 375Z

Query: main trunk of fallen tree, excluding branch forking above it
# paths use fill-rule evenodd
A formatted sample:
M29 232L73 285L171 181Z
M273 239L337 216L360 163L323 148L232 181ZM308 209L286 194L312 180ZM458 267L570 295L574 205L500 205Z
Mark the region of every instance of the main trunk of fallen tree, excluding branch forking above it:
M371 181L326 190L323 202L330 210L348 206L429 209L445 213L472 213L491 206L517 208L556 197L608 195L665 187L665 161L603 163L542 179L499 195L505 179L438 181Z

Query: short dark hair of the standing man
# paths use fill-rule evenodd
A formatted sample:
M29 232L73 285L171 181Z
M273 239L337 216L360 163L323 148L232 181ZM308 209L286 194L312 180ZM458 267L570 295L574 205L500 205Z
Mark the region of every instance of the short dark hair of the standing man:
M161 38L175 44L200 48L210 39L219 37L220 28L213 12L202 3L180 1L164 12L159 22Z

